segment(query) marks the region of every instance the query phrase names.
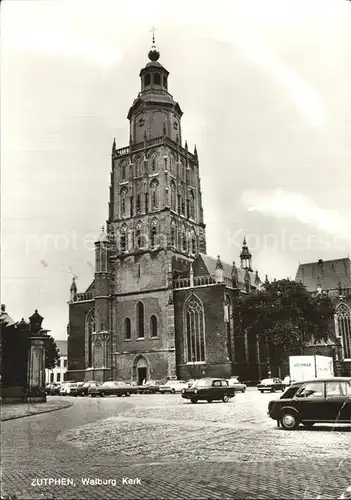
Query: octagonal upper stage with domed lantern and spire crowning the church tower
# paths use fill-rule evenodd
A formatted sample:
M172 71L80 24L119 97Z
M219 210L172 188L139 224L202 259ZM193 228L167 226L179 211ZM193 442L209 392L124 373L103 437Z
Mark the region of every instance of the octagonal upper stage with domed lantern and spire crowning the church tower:
M145 133L148 139L166 135L175 142L178 135L181 143L183 112L168 92L169 72L159 62L160 52L156 48L155 33L148 57L149 62L139 75L141 90L128 113L131 143L143 142Z

